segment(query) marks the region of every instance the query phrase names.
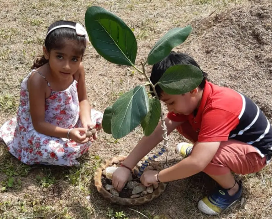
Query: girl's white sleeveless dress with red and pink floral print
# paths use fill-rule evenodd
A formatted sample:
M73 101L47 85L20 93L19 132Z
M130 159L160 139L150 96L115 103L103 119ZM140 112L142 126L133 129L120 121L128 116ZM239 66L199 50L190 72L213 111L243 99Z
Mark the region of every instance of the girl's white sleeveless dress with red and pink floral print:
M17 117L3 124L0 128L0 139L5 142L9 152L23 163L76 165L78 164L76 158L89 149L90 142L79 144L67 138L43 135L33 127L27 89L27 81L33 71L22 81ZM43 75L42 77L45 79ZM77 83L74 80L66 90L56 92L52 91L47 82L51 89L51 95L45 100L46 122L67 129L82 127L79 119ZM101 112L91 110L91 119L97 126L101 124L102 116Z

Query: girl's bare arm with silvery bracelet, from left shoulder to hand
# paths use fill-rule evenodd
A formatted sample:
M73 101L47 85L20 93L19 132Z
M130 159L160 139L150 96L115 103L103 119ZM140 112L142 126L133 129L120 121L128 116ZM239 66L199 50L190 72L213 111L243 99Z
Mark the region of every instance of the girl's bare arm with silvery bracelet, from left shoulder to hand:
M57 138L67 138L69 129L61 128L45 121L45 97L47 82L39 75L33 74L28 79L29 105L32 124L36 131L41 134ZM86 136L80 136L77 133L80 130L74 130L69 133L76 142L84 142ZM82 130L83 131L83 130Z

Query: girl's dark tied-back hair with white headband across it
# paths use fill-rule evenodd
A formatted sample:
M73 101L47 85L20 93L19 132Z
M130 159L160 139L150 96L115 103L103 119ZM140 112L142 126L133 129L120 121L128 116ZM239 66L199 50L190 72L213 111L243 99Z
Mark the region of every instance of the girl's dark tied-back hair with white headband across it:
M76 25L75 22L68 21L68 20L59 20L50 25L48 28L47 33L53 28L57 27L59 25ZM86 39L84 36L78 36L74 29L72 28L58 28L56 30L53 30L45 39L45 48L48 52L50 52L51 49L61 49L65 45L65 40L71 40L76 41L76 44L78 45L78 52L82 55L85 52L86 49ZM48 60L41 56L40 58L37 58L33 65L31 66L31 69L39 68L43 66L44 64L48 63Z

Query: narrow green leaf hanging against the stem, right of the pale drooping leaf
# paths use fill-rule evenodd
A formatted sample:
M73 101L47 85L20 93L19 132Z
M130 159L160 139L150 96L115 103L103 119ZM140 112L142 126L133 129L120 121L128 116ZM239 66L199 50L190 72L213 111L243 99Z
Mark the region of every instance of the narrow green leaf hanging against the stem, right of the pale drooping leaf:
M145 136L149 136L155 130L160 120L160 111L160 101L156 98L149 99L149 111L141 122Z

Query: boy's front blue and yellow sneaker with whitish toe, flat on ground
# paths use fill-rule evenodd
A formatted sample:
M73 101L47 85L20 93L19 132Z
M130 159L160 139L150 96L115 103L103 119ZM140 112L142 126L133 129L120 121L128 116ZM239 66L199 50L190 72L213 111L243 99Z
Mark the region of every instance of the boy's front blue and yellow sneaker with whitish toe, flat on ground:
M238 183L238 182L237 182ZM237 202L242 196L242 185L238 183L239 190L230 196L228 189L219 188L215 193L204 197L198 202L198 209L208 215L217 215Z

